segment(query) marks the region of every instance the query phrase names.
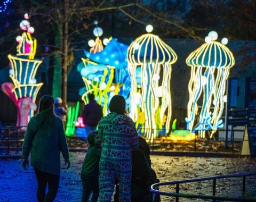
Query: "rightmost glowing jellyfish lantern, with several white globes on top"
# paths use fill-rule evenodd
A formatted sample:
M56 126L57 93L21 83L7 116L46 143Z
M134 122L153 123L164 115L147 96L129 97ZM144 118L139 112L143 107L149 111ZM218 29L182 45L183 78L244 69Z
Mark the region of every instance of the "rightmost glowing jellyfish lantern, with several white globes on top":
M206 43L186 59L191 67L187 129L198 130L202 138L206 130L211 130L212 136L218 128L223 127L220 118L226 99L226 80L229 69L235 64L233 54L225 46L227 38L222 39L222 44L215 41L217 38L217 32L209 32ZM202 106L201 110L198 105Z

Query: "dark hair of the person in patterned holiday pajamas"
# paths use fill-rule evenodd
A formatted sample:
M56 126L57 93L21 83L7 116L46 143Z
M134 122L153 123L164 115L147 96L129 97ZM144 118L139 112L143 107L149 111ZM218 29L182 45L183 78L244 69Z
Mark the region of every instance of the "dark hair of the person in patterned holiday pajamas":
M124 97L121 95L114 95L110 100L108 110L118 114L127 114Z

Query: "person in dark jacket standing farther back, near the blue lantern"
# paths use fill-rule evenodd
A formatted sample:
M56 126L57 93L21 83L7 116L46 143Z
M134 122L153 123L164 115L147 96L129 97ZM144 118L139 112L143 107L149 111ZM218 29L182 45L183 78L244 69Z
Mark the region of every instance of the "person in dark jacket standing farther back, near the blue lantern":
M94 100L94 94L89 94L88 99L89 104L84 106L82 114L87 135L96 130L97 125L103 116L101 106Z

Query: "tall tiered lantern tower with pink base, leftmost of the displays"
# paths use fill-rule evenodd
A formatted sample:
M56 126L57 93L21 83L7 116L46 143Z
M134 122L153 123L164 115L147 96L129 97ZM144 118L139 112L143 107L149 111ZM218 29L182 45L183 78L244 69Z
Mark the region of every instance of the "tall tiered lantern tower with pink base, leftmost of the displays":
M20 28L25 31L22 36L16 38L19 43L17 54L8 55L11 69L10 77L13 83L5 82L2 90L9 96L17 107L17 126L26 126L30 117L36 111L36 96L43 83L36 83L36 72L41 60L34 59L36 53L36 39L30 33L34 28L30 27L27 20L20 23Z

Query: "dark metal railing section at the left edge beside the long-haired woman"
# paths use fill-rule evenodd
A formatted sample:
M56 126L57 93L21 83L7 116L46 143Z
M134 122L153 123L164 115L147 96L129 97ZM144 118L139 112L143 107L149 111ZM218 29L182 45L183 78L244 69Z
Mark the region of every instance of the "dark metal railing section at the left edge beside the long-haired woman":
M18 154L24 140L26 127L3 127L0 134L0 154Z

